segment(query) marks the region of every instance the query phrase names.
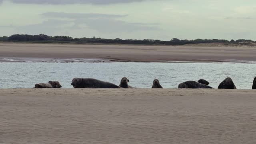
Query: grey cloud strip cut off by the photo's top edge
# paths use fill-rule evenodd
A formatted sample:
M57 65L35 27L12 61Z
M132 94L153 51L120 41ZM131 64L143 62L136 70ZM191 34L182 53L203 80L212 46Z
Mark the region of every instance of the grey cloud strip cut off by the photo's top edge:
M3 0L0 0L0 2ZM120 4L149 0L10 0L18 4Z

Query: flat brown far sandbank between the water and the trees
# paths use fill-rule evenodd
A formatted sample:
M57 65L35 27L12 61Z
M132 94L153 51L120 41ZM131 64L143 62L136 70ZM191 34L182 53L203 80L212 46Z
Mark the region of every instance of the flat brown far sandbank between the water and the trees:
M0 43L1 57L22 58L91 58L133 62L256 61L255 47L200 46L128 46L78 44L5 44Z

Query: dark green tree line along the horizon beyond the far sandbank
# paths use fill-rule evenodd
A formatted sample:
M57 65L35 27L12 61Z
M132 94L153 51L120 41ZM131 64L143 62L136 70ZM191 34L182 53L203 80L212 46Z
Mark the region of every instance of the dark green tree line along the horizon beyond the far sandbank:
M184 44L200 44L200 43L224 43L224 44L236 44L240 42L254 42L253 40L218 40L218 39L196 39L196 40L179 40L178 38L173 38L170 41L162 40L122 40L120 38L116 39L106 39L106 38L72 38L70 36L47 36L45 34L39 35L28 35L28 34L14 34L10 37L3 36L0 37L0 41L3 42L32 42L32 43L77 43L77 44L87 44L87 43L102 43L102 44L165 44L165 45L184 45Z

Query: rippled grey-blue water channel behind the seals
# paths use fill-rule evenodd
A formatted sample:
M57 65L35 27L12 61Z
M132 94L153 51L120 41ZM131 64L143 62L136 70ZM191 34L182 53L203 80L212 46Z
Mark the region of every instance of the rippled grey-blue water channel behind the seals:
M131 86L151 88L155 78L164 88L177 88L187 80L208 80L210 86L230 76L238 89L251 89L256 64L230 63L0 63L0 88L33 88L36 83L58 80L72 88L72 78L96 78L119 85L122 77Z

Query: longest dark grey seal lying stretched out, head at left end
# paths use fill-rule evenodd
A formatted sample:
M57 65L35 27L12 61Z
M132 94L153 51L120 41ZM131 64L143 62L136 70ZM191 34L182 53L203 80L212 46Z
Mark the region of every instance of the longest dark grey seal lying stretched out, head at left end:
M71 85L74 88L121 88L110 82L103 82L94 78L74 78Z

